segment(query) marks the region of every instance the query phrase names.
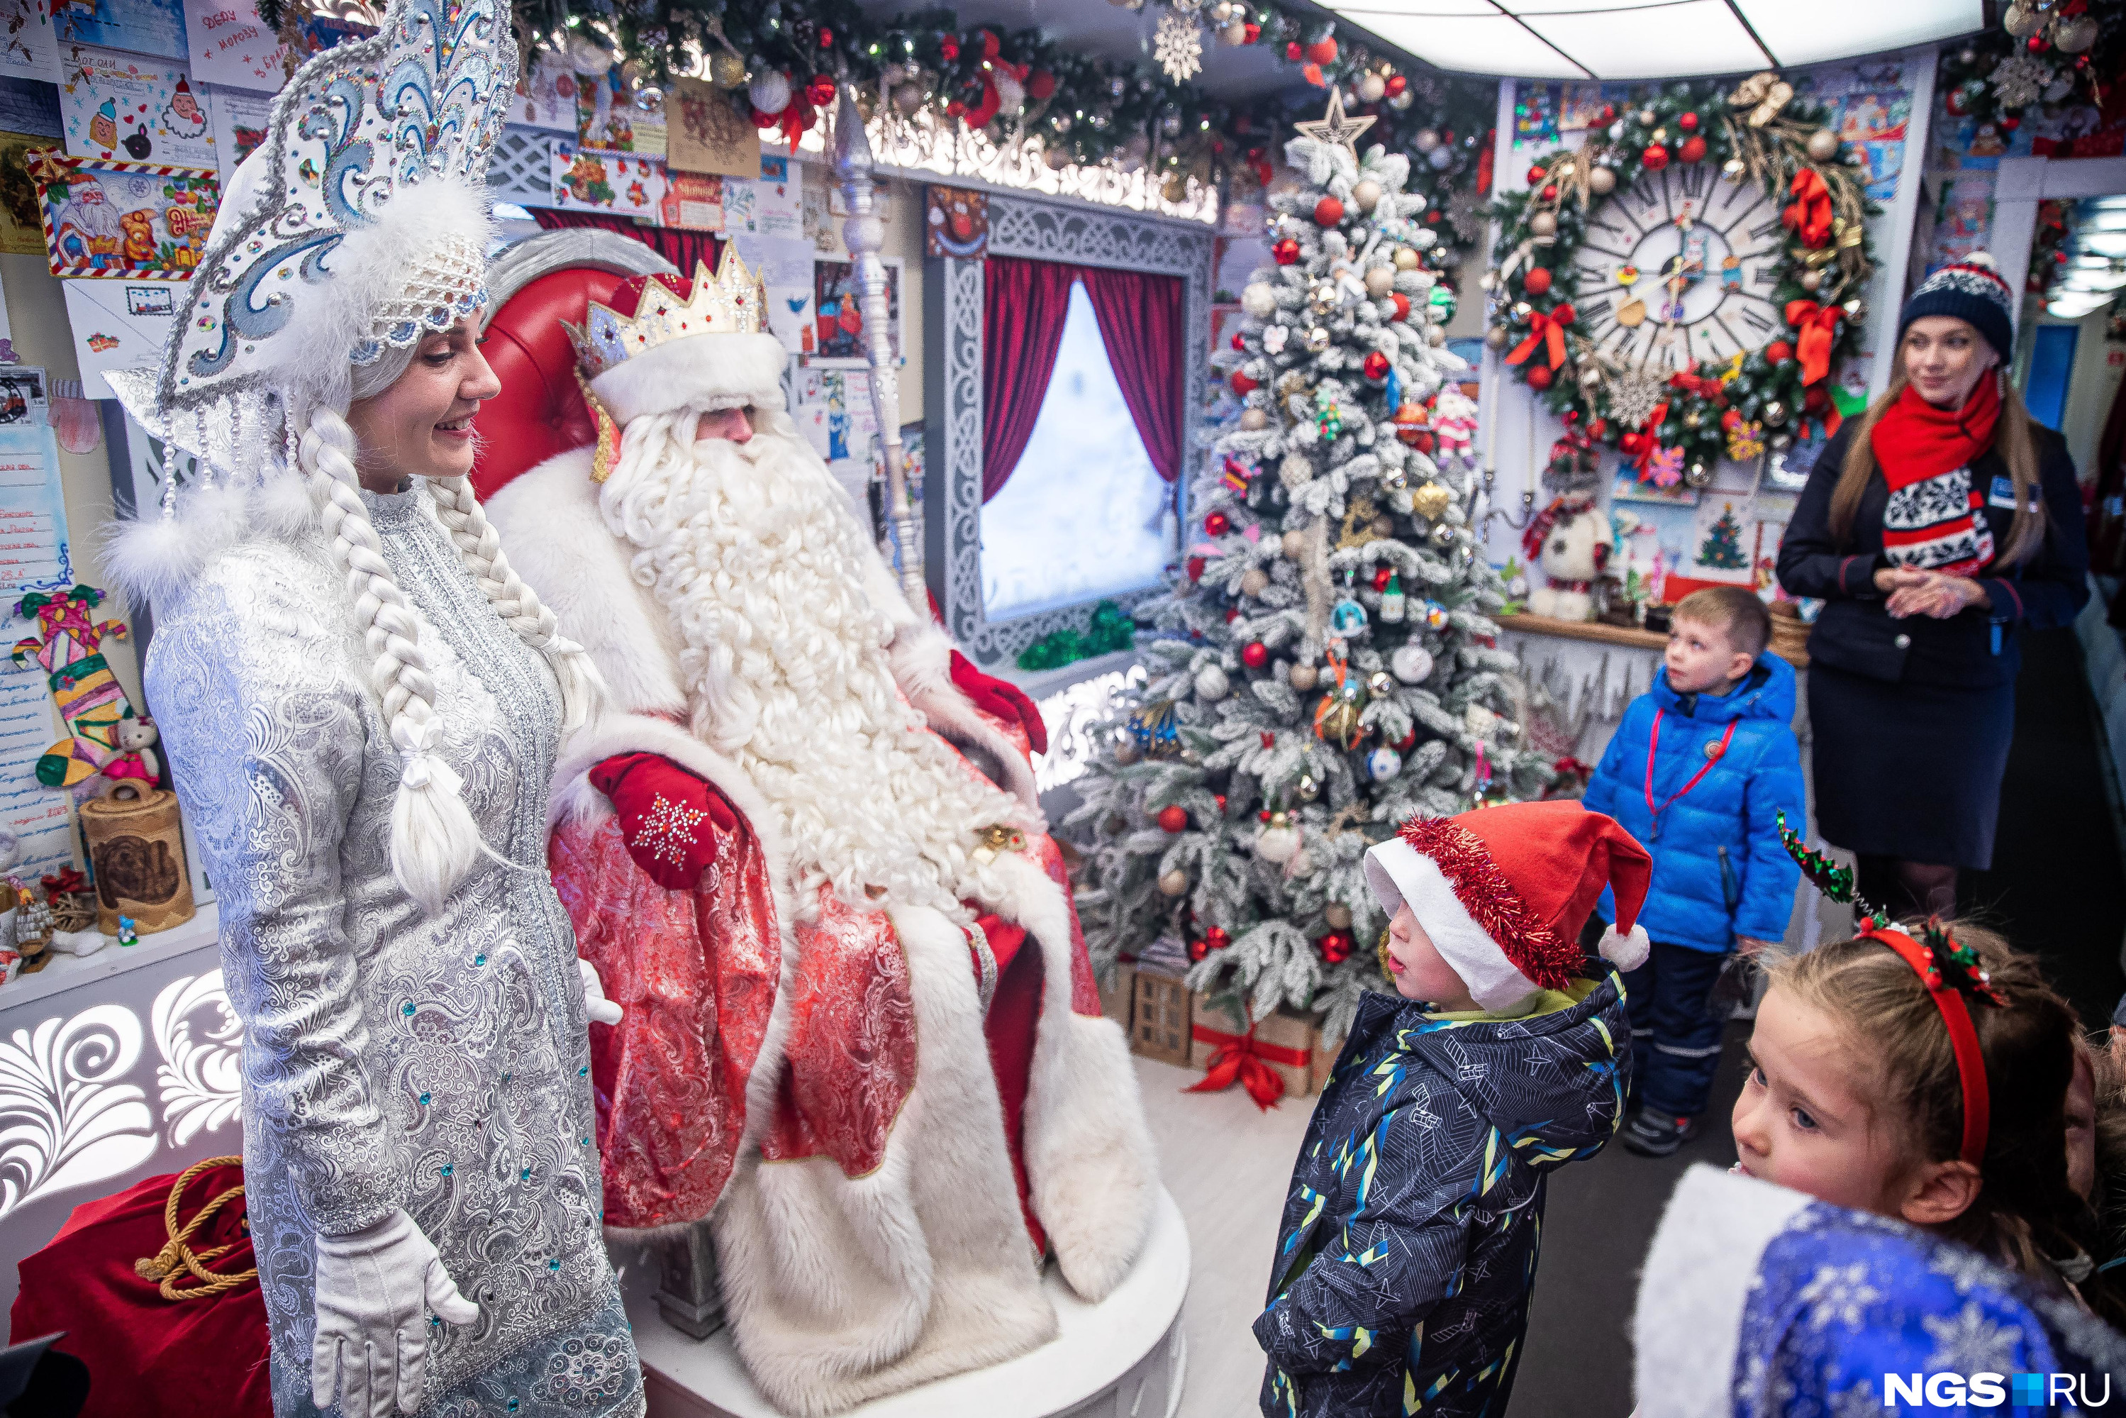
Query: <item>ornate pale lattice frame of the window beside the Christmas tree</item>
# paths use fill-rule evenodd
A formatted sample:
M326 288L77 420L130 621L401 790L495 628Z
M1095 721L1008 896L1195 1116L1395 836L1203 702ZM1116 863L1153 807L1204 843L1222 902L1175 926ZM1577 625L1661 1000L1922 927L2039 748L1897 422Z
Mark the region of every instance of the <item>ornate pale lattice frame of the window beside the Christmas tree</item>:
M1188 523L1186 489L1201 421L1203 366L1210 330L1212 232L1174 221L1076 202L989 196L989 253L1144 270L1182 278L1182 476L1176 480L1180 525ZM1084 629L1101 600L1125 608L1152 595L1089 597L1023 617L991 621L982 606L982 261L925 257L925 349L942 351L938 376L925 381L925 438L933 468L923 489L925 561L946 627L984 663L1014 659L1059 629ZM1174 548L1180 551L1178 546Z

